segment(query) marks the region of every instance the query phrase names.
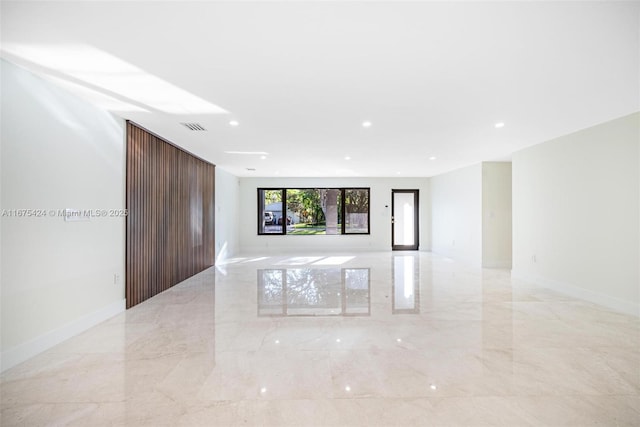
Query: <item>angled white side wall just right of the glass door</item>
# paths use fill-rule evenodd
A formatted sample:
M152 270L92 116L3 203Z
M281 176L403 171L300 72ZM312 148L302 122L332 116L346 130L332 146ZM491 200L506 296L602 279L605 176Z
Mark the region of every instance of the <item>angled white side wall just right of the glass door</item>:
M431 178L431 249L482 265L482 166Z

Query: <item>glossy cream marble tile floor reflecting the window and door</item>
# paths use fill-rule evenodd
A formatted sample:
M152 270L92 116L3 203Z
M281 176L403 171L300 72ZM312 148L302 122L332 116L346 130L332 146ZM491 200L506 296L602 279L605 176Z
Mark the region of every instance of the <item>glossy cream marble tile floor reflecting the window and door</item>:
M9 425L640 425L640 322L430 253L238 257L2 375Z

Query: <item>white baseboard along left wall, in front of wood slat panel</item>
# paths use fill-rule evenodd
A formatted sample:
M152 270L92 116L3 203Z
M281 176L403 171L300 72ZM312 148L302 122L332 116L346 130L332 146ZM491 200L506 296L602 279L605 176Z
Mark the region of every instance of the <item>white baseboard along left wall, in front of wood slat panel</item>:
M113 316L122 313L126 309L126 300L116 301L98 311L82 316L81 318L74 320L58 329L54 329L51 332L47 332L37 338L34 338L26 343L20 344L9 350L3 351L0 358L0 372L4 372L9 368L22 363L33 356L42 353L51 347L60 344L63 341L74 337L81 332L104 322Z

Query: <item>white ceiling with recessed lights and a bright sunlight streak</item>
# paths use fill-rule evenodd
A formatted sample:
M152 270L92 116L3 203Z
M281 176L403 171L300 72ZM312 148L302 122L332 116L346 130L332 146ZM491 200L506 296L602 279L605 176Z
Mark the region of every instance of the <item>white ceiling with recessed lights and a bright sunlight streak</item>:
M433 176L638 111L639 23L640 2L3 1L1 46L238 176Z

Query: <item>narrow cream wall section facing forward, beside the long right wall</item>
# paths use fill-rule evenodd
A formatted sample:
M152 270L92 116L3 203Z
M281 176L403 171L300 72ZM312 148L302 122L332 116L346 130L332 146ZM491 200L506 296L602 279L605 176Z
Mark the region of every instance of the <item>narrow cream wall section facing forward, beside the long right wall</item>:
M511 268L511 162L482 163L482 266Z

